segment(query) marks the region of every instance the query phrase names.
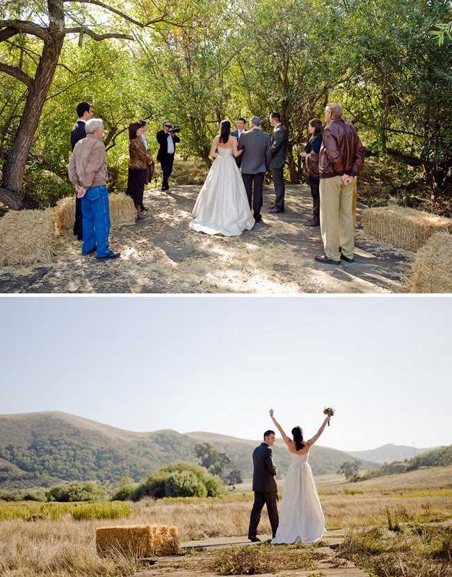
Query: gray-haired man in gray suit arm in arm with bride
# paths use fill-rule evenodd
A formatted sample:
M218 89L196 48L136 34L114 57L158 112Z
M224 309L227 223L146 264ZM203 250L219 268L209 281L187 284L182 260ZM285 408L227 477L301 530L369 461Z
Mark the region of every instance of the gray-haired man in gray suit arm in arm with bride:
M256 222L262 220L262 185L271 161L270 134L261 132L260 125L261 119L253 116L250 120L251 130L241 134L237 146L239 150L243 150L241 154L242 179Z

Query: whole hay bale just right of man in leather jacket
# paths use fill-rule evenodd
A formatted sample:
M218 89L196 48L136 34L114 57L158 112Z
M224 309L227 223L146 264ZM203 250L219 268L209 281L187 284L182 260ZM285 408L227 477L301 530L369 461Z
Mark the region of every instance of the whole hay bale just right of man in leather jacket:
M452 232L452 220L403 206L362 211L364 234L405 250L417 251L433 233Z

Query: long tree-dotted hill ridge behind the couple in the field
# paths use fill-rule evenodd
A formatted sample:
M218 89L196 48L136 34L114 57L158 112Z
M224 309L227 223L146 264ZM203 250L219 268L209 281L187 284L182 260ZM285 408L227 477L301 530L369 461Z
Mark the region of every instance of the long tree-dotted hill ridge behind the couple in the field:
M202 442L226 453L245 478L252 475L252 450L259 441L209 432L133 432L63 412L0 415L0 488L49 487L62 480L138 481L170 462L197 463L195 444ZM273 452L278 471L285 473L290 457L282 439ZM317 445L309 454L317 475L335 473L351 458ZM362 461L363 469L376 466Z

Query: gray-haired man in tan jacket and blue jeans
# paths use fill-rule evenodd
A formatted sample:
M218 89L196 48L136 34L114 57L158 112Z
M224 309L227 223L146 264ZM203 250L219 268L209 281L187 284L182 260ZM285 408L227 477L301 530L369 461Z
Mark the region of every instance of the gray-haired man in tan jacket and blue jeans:
M105 146L102 143L104 123L100 118L86 122L86 138L79 140L69 161L69 178L81 198L83 214L83 245L81 252L90 254L96 250L99 261L117 259L119 252L108 247L110 232L110 208L106 188Z

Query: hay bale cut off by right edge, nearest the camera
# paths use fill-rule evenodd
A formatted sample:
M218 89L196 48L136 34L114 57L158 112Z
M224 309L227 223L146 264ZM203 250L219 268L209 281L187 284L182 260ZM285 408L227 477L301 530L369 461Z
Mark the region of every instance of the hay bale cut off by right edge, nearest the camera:
M452 293L452 235L437 232L416 254L412 293Z

